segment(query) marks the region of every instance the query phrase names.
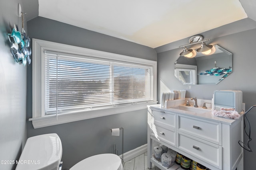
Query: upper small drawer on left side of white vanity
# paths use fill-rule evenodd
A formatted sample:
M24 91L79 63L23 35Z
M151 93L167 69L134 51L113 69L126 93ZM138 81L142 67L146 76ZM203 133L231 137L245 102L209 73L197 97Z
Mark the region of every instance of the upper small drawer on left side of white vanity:
M176 113L163 110L153 110L154 121L176 129Z

